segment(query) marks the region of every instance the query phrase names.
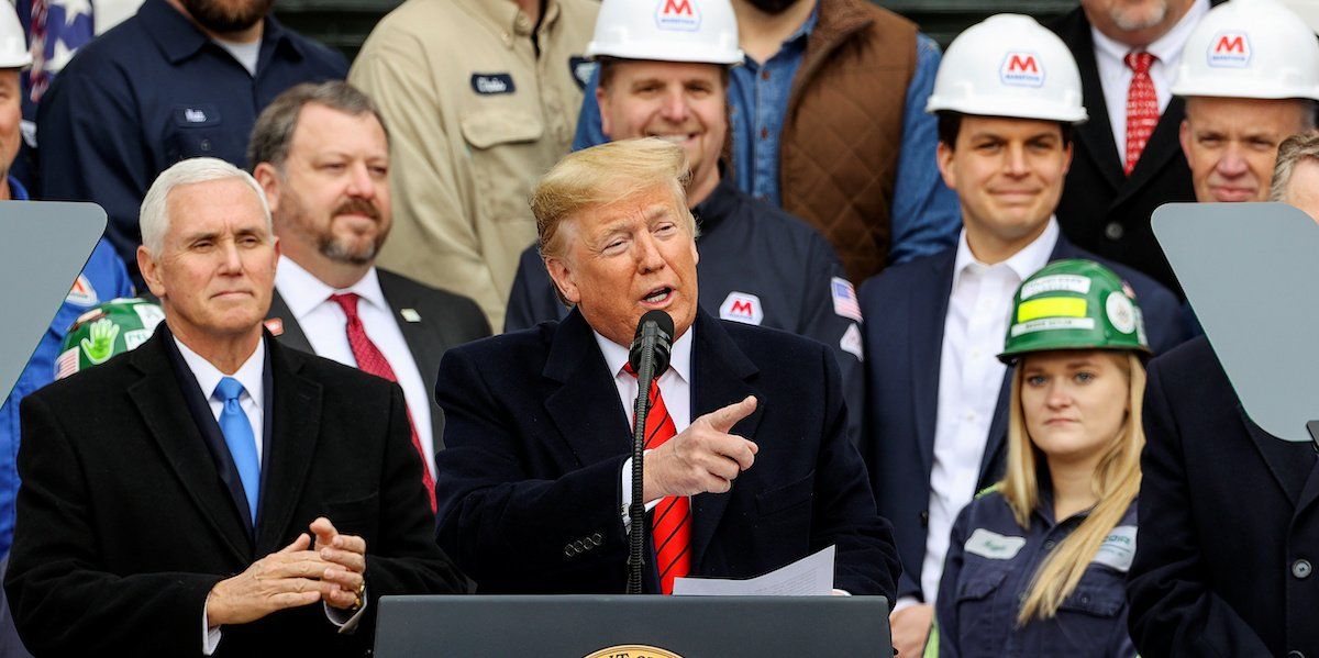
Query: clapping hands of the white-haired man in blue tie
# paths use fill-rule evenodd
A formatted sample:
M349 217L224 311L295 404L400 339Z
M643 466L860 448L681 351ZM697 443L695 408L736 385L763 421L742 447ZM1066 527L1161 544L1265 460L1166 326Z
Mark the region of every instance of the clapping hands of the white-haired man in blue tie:
M299 534L280 551L216 583L206 596L207 624L247 624L317 601L340 609L359 607L365 587L365 539L339 534L324 517L313 521L309 530L310 535Z

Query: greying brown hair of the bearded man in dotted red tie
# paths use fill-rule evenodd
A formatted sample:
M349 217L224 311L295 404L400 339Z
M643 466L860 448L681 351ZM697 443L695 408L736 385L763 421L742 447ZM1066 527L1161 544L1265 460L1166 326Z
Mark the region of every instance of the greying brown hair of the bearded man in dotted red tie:
M298 129L298 116L302 113L302 108L309 104L324 105L350 116L371 113L385 132L385 144L389 142L389 128L385 127L385 117L380 116L380 109L376 108L371 96L343 80L319 84L305 82L289 87L284 94L276 96L261 111L261 116L256 117L252 138L248 140L249 171L261 162L269 162L276 169L282 169L284 161L289 157L289 149L293 146L293 132Z

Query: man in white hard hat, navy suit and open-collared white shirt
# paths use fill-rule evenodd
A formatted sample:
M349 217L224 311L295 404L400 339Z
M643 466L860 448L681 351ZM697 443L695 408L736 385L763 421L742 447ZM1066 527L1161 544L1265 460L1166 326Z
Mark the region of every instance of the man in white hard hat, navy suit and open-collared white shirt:
M860 291L871 355L861 452L902 558L892 618L902 655L925 643L958 512L1002 472L1010 373L996 355L1017 286L1050 261L1099 261L1133 289L1154 351L1186 335L1173 293L1058 228L1080 99L1071 53L1033 18L995 16L959 36L927 111L939 117L936 158L962 202L962 236Z

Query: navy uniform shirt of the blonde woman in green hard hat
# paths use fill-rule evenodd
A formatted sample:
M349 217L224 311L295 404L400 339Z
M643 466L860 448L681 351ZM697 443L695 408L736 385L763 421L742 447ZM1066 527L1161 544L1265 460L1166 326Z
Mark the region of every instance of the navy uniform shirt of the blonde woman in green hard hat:
M1039 564L1086 520L1054 521L1053 500L1022 530L1008 501L989 489L952 526L935 604L940 657L1122 658L1136 655L1126 632L1126 571L1136 555L1136 504L1108 533L1076 589L1049 620L1017 625Z

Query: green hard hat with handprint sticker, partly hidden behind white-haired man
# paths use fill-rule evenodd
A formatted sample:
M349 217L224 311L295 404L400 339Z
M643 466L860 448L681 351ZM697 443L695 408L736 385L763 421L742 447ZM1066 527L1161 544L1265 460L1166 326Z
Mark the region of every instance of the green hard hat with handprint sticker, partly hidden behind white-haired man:
M55 378L100 365L136 349L165 319L160 306L138 298L111 299L74 320L55 359Z

